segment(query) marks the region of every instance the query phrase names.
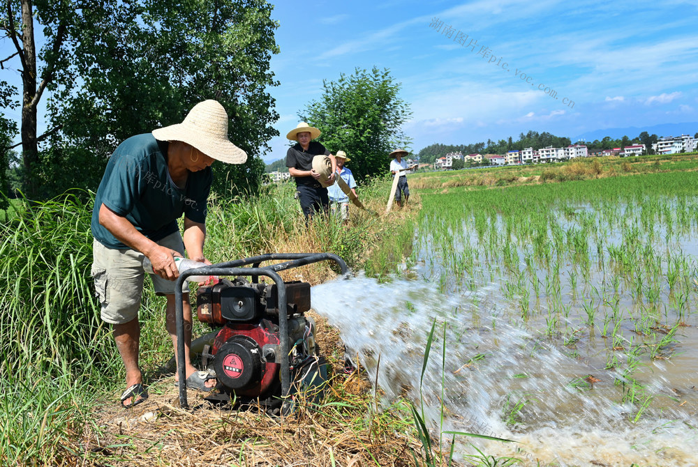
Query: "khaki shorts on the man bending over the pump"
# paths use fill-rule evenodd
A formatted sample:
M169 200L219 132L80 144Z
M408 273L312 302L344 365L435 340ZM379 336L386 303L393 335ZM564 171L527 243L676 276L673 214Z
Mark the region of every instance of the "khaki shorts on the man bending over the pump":
M179 232L174 232L156 242L184 254L184 243ZM102 307L102 319L110 324L124 324L138 318L140 298L143 293L144 254L136 250L114 250L107 248L97 240L92 242L92 278L99 303ZM174 281L151 274L158 296L174 294ZM184 282L184 293L189 286Z

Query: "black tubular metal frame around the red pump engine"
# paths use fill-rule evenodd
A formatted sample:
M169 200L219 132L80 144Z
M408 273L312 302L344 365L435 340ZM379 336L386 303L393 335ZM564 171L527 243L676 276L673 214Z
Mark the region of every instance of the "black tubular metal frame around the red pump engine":
M286 259L284 263L272 264L269 266L259 267L265 261ZM186 400L186 365L184 361L184 302L182 295L182 287L187 277L191 275L217 275L217 276L239 276L251 275L253 283L257 282L260 275L271 277L276 283L278 292L279 310L286 309L286 286L279 274L281 270L297 268L306 264L317 263L318 261L332 260L339 265L341 275L348 277L349 268L343 259L332 253L267 253L257 257L245 259L237 259L235 261L227 261L225 263L213 264L211 266L202 266L201 268L188 269L179 274L177 282L174 284L174 324L177 328L177 374L179 374L179 406L181 408L189 408ZM248 264L253 265L252 268L245 268ZM192 313L193 321L193 313ZM281 398L286 399L290 390L290 365L288 362L288 316L286 313L279 313L279 335L280 353L281 353ZM282 411L283 413L283 411Z

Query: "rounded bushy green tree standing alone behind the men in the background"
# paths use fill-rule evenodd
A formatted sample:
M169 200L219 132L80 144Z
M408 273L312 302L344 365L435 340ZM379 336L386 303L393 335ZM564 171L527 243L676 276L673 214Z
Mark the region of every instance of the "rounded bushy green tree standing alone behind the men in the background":
M401 125L412 113L399 97L400 84L387 69L373 67L342 73L337 81L322 86L322 97L298 116L320 129L320 141L329 151L347 153L357 181L385 173L392 149L410 143Z

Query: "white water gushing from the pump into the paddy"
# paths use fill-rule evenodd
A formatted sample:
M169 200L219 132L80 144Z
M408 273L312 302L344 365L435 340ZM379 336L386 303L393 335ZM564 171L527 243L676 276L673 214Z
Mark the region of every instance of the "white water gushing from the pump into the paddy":
M498 309L506 305L492 299L495 291L498 286L489 285L465 296L445 296L422 280L378 284L359 276L314 286L312 305L339 328L372 380L380 355L378 385L387 399L406 395L417 408L423 402L437 437L443 390L444 431L518 442L459 436L456 459L475 453L468 445L473 443L487 455L517 457L526 466L698 465L698 395L688 408L648 407L646 415L630 422L637 408L621 403L615 373L594 367L591 359L570 358L542 335L505 319ZM435 319L420 395L424 350ZM672 386L659 374L661 365L667 363L655 368L652 384L668 397ZM593 388L570 385L590 374L600 381ZM507 424L518 401L526 404ZM444 439L447 450L448 435Z

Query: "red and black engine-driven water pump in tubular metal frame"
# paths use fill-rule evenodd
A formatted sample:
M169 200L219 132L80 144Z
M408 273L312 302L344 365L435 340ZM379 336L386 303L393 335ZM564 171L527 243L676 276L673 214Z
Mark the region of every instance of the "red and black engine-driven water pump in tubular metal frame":
M283 261L261 266L265 261ZM270 413L285 413L282 404L306 385L318 386L327 376L315 345L315 323L305 312L311 307L307 282L283 282L281 270L331 260L348 275L334 254L263 254L218 263L179 275L175 286L179 401L187 408L184 378L184 328L181 286L190 275L232 276L202 286L196 294L197 316L218 328L202 353L202 363L216 372L216 400L259 403ZM262 280L260 280L262 276ZM251 277L247 280L246 277ZM271 281L265 280L266 278ZM278 410L277 410L278 409Z

